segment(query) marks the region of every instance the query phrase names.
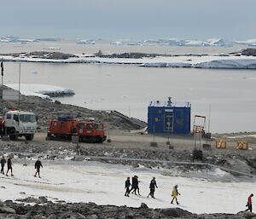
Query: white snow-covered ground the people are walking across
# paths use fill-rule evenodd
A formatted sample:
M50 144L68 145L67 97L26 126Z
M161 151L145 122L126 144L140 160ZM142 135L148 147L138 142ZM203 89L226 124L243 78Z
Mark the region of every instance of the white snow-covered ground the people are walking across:
M23 166L14 160L15 176L0 176L1 200L24 199L27 196L47 196L51 200L67 202L95 202L98 205L127 205L139 207L145 203L151 208L176 207L171 205L172 187L178 185L181 196L179 207L195 213L245 210L249 193L253 193L253 182L218 182L196 177L173 176L172 170L149 170L117 164L100 164L84 161L43 160L42 179L35 178L33 164ZM218 170L209 174L226 175ZM141 196L125 197L125 179L137 175ZM156 199L147 198L148 186L156 177L158 188Z

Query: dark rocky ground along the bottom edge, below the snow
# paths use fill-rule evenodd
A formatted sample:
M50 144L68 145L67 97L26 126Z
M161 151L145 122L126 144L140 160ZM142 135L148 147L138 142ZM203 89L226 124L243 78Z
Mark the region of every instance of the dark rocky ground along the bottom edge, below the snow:
M9 219L55 219L55 218L73 218L73 219L255 219L256 215L243 211L236 215L231 214L192 214L189 211L179 208L169 209L149 209L143 204L139 208L113 205L96 205L94 203L52 203L45 197L38 199L26 198L13 201L0 202L0 218ZM37 203L29 205L27 203Z

